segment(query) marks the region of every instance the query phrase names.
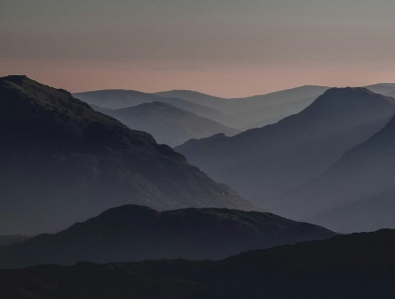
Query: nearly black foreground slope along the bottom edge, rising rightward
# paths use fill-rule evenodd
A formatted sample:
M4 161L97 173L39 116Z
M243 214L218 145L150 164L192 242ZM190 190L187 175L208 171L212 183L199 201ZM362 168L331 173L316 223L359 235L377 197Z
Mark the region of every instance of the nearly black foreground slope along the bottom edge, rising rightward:
M395 231L250 251L213 261L0 270L4 298L393 299Z

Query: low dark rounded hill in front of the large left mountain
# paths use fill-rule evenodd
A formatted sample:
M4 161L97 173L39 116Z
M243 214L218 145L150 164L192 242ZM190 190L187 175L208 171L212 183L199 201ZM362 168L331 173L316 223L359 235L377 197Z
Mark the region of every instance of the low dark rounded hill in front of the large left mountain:
M219 208L158 212L146 206L123 205L65 231L2 248L0 268L73 265L78 261L220 259L335 234L271 213Z

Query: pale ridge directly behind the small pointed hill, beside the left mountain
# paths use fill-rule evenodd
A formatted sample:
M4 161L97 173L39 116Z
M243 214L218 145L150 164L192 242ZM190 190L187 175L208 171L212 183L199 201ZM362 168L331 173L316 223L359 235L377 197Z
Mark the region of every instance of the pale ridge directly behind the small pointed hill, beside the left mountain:
M73 94L79 100L102 108L121 109L154 101L168 103L177 108L190 111L198 116L209 119L222 119L225 117L220 111L188 100L160 97L155 94L143 93L135 90L107 89Z

